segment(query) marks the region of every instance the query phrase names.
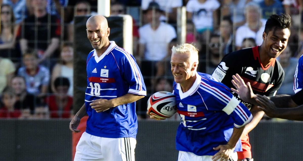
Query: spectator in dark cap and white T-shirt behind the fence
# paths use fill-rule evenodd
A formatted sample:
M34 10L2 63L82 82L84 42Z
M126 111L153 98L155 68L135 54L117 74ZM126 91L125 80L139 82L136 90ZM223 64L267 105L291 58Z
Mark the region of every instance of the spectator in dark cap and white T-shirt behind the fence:
M156 2L150 2L148 8L144 11L144 19L148 22L139 28L139 59L142 62L142 75L154 76L156 62L163 60L167 55L168 43L175 37L176 31L170 24L160 21L163 11ZM138 59L137 59L138 60ZM148 77L145 77L149 79ZM148 86L148 80L145 84Z

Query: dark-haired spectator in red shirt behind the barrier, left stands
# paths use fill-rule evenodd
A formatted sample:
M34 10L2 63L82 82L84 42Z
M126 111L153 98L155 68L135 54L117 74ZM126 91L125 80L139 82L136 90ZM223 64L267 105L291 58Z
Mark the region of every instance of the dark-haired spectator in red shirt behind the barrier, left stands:
M73 98L68 95L69 80L65 77L58 77L55 79L54 85L54 95L45 99L49 108L50 118L70 118Z

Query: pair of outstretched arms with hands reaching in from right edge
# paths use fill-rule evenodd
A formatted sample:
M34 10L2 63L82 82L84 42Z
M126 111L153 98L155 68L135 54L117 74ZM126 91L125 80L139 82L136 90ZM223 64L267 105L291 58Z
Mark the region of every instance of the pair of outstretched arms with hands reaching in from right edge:
M250 83L245 84L238 74L233 76L232 83L237 89L231 88L233 92L240 95L242 100L257 104L269 117L303 121L303 90L294 95L276 95L268 98L255 95Z

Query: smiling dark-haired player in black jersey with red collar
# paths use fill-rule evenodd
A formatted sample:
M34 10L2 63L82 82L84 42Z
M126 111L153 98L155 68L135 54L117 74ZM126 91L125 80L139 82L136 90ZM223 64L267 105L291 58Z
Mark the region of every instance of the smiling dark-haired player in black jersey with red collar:
M229 88L233 88L232 75L238 73L245 83L250 82L254 93L266 96L275 95L284 79L284 71L276 58L287 47L290 25L291 18L289 15L271 15L265 24L261 46L227 54L212 76ZM237 93L234 93L234 95L250 109L253 115L252 121L245 126L241 136L243 152L238 152L238 161L241 161L244 158L251 158L248 133L255 128L264 112L258 109L256 105L241 100Z

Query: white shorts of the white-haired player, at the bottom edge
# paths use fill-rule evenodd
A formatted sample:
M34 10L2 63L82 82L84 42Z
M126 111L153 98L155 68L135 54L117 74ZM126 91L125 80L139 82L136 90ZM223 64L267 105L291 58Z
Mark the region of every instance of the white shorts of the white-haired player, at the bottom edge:
M191 152L184 152L184 151L179 151L179 156L178 156L178 161L212 161L211 159L212 156L210 155L205 155L205 156L197 156L194 153ZM238 154L233 153L231 155L231 158L234 161L238 160ZM230 161L231 159L228 159L228 161Z

